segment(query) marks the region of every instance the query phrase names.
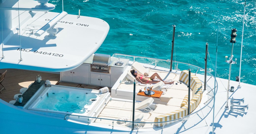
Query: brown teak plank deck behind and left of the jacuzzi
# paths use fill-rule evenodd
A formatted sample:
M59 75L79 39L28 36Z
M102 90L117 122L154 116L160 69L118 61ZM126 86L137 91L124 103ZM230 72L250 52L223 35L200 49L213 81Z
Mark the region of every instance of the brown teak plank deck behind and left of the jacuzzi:
M0 99L6 102L14 100L13 97L15 94L19 94L20 88L28 87L32 82L36 80L38 74L41 75L42 80L49 80L51 81L51 84L54 85L80 87L96 90L102 88L101 86L59 82L59 73L39 72L21 69L0 69L0 72L3 73L5 70L7 70L7 73L2 84L5 86L6 90L2 90L2 94L0 93ZM0 88L1 87L2 86L0 85Z

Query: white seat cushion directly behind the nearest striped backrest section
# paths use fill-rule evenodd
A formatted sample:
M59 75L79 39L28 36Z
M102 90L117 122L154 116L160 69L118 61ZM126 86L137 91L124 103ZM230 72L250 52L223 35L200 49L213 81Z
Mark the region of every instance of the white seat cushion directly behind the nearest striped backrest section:
M151 113L167 114L167 113L170 113L170 112L175 111L177 109L180 109L180 107L156 104L156 109L154 111L151 111Z

